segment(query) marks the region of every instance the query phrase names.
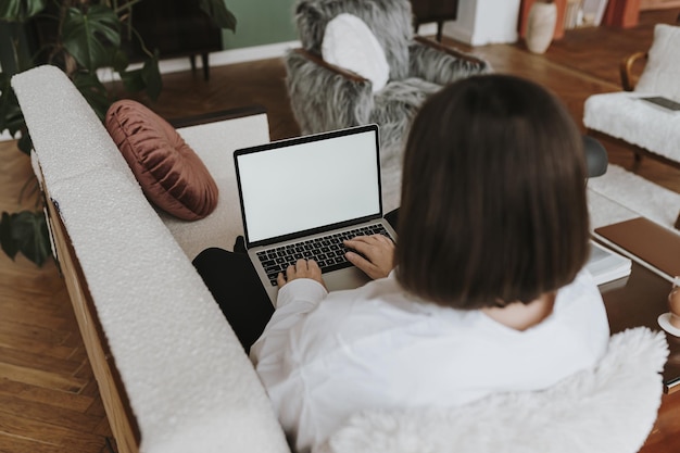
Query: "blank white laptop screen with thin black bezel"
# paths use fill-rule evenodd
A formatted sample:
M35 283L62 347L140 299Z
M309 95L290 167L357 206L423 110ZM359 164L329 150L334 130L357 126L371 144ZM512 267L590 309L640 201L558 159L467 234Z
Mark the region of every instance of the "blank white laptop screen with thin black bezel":
M270 142L234 156L250 244L381 215L376 125Z

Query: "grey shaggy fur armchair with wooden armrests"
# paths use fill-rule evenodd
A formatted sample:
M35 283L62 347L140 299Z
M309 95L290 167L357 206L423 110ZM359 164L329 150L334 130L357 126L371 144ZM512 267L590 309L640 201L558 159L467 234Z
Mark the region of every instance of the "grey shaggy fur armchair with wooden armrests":
M385 187L388 192L398 190L401 172L394 169L400 167L403 140L419 105L445 84L488 72L489 64L415 37L408 0L298 0L294 8L302 48L290 50L285 60L291 106L302 134L377 123ZM327 25L342 13L361 20L366 34L327 35ZM370 53L374 37L378 55ZM325 58L329 47L343 47L353 39L361 43L350 52L353 63L372 64L376 56L387 62L383 87L360 74L356 65L350 71Z

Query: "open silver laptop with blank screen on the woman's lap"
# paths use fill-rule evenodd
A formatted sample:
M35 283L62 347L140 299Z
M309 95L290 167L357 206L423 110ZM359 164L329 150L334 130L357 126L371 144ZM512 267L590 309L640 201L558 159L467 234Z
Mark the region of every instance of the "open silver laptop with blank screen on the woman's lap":
M369 280L342 240L396 238L382 218L377 125L243 148L234 161L245 248L273 303L277 274L298 259L316 260L329 291Z

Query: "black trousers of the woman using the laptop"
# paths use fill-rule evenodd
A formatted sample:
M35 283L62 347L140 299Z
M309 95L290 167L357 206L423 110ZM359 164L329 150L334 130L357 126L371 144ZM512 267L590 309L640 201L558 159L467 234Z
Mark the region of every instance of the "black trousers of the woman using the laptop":
M398 211L385 218L396 229ZM239 249L235 247L235 250ZM224 249L205 249L193 259L205 282L245 352L260 338L274 306L248 255Z

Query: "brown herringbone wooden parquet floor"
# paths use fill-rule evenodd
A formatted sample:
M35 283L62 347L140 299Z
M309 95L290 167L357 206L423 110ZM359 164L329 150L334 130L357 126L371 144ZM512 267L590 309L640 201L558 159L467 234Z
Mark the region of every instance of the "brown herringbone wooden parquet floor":
M645 12L633 29L567 32L543 55L521 43L475 49L446 41L488 59L496 72L537 80L556 92L580 123L584 99L615 91L619 60L652 42L655 23L675 23L680 10ZM163 77L165 89L152 108L167 118L261 104L267 109L272 139L300 134L286 93L280 60L214 67ZM632 155L608 147L613 163L631 167ZM680 192L680 172L644 161L640 174ZM0 143L0 211L33 207L18 201L30 183L28 159L13 142ZM27 183L28 181L28 183ZM130 259L134 259L131 256ZM68 297L53 263L37 268L23 257L0 253L0 452L115 452ZM670 452L664 444L645 452Z

